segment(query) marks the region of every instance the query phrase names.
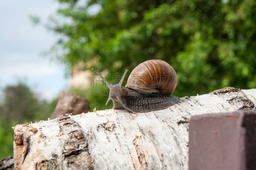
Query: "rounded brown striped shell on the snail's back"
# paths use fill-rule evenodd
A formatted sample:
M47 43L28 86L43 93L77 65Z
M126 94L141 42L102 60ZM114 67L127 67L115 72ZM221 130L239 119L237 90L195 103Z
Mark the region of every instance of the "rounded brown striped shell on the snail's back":
M170 64L163 60L148 60L132 70L125 87L143 92L161 91L170 95L177 81L177 74Z

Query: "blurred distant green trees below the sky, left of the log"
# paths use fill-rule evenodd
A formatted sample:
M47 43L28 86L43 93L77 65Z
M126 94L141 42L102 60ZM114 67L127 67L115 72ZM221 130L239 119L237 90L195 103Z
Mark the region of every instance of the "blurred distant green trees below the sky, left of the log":
M48 103L39 100L24 83L7 85L0 103L0 159L13 155L13 130L16 124L47 120L58 99Z

